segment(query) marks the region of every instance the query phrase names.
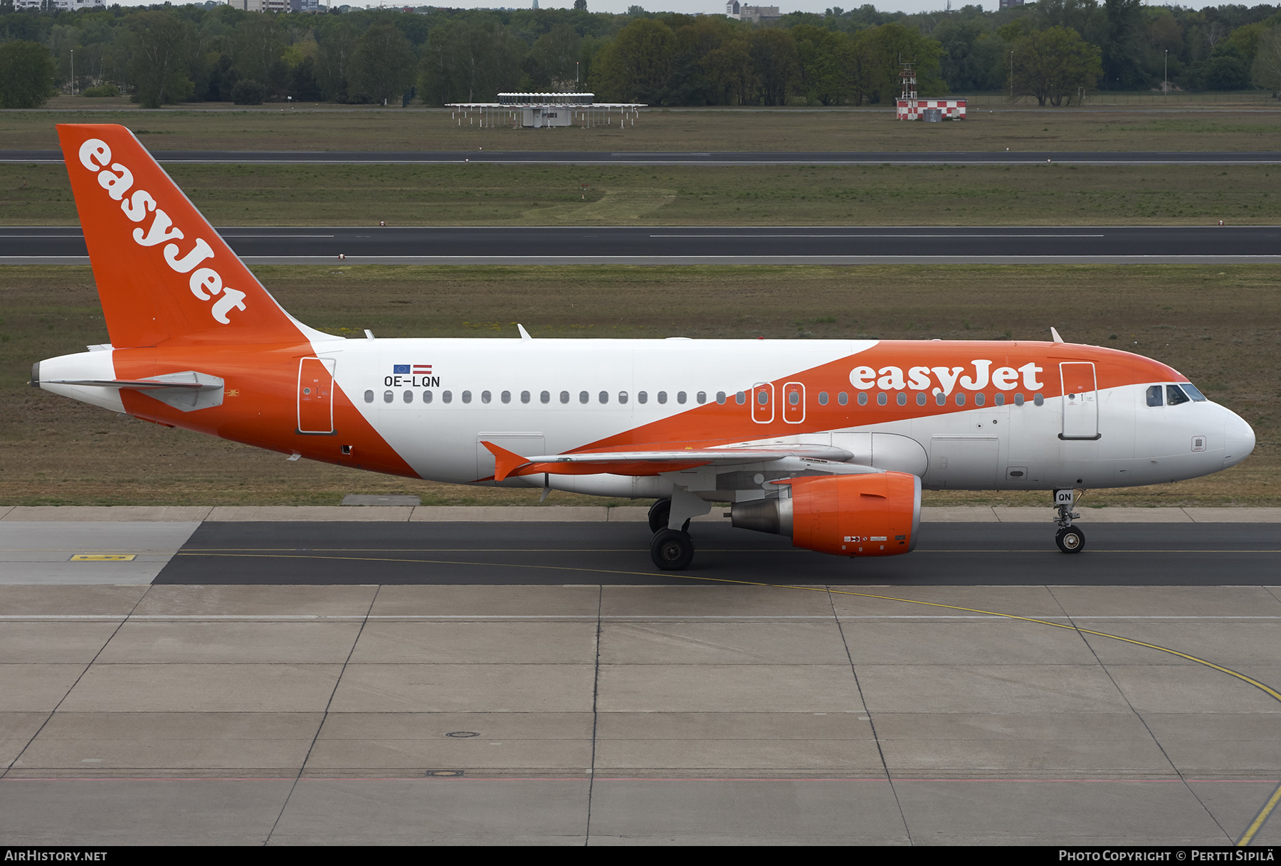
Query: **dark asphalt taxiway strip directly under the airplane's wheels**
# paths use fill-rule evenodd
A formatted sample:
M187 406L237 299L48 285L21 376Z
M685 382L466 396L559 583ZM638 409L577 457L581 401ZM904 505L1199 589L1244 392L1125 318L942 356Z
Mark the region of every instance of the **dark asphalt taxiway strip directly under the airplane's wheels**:
M719 523L693 528L694 564L664 573L644 524L211 523L156 584L1221 585L1281 574L1281 524L1082 524L1067 556L1050 524L926 524L915 552L847 560Z

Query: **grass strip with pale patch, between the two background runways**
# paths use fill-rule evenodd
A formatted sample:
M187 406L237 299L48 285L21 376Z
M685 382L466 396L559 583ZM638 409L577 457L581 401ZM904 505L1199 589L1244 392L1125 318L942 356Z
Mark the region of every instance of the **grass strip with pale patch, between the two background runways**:
M218 225L1281 223L1277 165L174 164L168 170ZM0 167L0 224L76 223L61 165Z

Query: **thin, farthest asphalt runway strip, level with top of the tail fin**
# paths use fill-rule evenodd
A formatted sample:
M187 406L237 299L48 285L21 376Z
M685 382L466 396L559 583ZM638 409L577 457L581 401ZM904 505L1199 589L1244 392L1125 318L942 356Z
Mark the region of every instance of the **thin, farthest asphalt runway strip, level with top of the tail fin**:
M502 165L1276 165L1281 151L272 151L155 150L161 163L202 164L456 164ZM58 150L0 150L0 163L61 163Z

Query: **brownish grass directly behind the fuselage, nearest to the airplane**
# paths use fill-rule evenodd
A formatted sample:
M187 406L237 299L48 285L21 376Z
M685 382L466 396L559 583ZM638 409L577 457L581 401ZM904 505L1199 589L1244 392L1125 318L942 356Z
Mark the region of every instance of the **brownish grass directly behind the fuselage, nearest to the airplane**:
M884 337L1043 339L1150 355L1239 411L1254 455L1191 482L1091 491L1082 505L1281 505L1281 268L1275 265L259 268L304 322L382 337ZM108 339L88 268L0 268L0 505L534 503L537 492L286 462L26 387L31 364ZM930 493L927 503L1043 503ZM550 505L600 502L556 493Z

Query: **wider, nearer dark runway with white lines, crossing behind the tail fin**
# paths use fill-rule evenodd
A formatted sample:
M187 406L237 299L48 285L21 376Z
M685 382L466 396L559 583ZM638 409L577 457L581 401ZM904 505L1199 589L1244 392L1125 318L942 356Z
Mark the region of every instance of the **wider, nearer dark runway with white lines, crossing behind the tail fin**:
M1281 261L1281 227L224 227L257 264ZM0 261L87 261L78 227L0 228Z

